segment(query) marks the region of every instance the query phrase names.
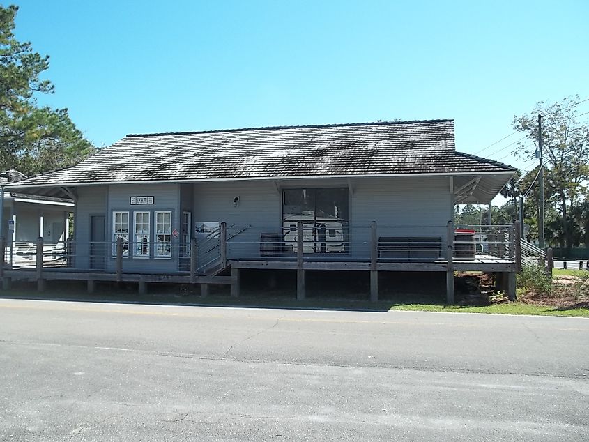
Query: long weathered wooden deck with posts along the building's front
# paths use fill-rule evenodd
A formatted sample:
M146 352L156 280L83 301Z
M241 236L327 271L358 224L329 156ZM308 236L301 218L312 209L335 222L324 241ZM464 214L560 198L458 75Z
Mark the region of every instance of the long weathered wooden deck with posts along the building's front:
M224 224L224 223L223 223ZM453 238L454 229L448 224L448 238ZM202 294L208 293L208 284L230 284L231 294L238 296L240 290L240 270L264 269L264 270L293 270L297 273L297 298L305 298L305 272L307 270L364 270L370 276L370 299L378 300L378 272L443 272L446 273L446 294L448 303L454 303L454 272L455 271L482 271L493 272L501 275L500 280L505 282L502 289L515 298L515 273L519 270L519 242L514 243L513 256L515 259L504 259L491 255L475 254L470 258L454 257L453 245L448 250L438 253L439 259L404 259L398 254L380 256L378 250L378 238L376 226L373 225L369 254L359 258L343 254L307 254L303 250L303 227L299 223L297 227L297 250L289 256L250 256L231 257L228 255L226 229L221 229L219 258L215 263L213 273L201 275L198 271L197 243L192 238L190 243L190 272L177 271L174 273L145 272L138 273L123 270L123 241L118 238L116 242L116 266L114 270L88 270L69 268L68 259L64 260L64 266L52 260L45 261L43 256L43 238L39 238L36 245L34 265L27 268L2 268L0 266L0 279L3 280L3 289L10 287L12 280L27 280L37 282L38 290L43 291L47 280L82 280L87 281L88 290L93 291L95 282L137 282L139 292L146 291L149 282L200 284ZM519 241L519 239L518 239ZM3 247L2 247L3 248ZM474 253L474 250L473 250ZM464 253L462 254L464 256ZM231 270L231 276L220 276L218 273Z

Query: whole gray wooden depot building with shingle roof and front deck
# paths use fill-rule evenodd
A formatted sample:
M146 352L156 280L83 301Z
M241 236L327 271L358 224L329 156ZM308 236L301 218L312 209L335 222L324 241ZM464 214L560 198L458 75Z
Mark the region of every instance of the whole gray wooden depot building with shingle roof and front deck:
M240 270L292 269L302 297L305 270L368 270L374 299L378 271L513 273L507 230L460 245L452 223L514 172L432 120L128 135L7 189L75 199L69 273L206 284L231 268L237 293Z

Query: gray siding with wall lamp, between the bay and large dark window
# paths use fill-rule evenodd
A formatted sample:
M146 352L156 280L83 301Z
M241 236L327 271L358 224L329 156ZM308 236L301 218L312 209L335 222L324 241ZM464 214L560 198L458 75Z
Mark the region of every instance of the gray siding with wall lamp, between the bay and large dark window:
M238 206L233 201L239 197ZM262 232L278 232L282 224L282 193L268 181L199 183L194 185L193 227L197 222L227 222L229 257L259 256Z

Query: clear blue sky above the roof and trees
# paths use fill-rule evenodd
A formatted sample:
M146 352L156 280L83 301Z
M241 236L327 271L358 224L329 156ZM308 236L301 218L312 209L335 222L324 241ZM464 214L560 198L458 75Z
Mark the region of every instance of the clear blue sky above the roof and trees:
M515 114L589 98L589 1L17 1L15 31L91 142L128 133L454 119L478 153ZM8 4L4 2L4 4ZM589 101L581 105L589 111ZM514 135L481 155L509 155Z

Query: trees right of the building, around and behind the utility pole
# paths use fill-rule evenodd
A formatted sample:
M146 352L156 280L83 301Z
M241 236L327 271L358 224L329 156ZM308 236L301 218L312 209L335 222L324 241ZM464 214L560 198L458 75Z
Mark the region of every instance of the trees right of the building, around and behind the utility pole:
M512 123L526 135L514 154L534 160L540 149L537 116L542 116L544 236L547 245L567 250L589 247L589 123L583 119L587 113L579 111L584 101L570 96L559 102L539 102L530 114L516 116ZM539 165L525 174L518 172L501 191L507 202L491 208L493 224L510 224L518 219L518 199L523 197L528 241L538 238L539 172ZM488 208L457 207L455 215L457 224L486 224Z

